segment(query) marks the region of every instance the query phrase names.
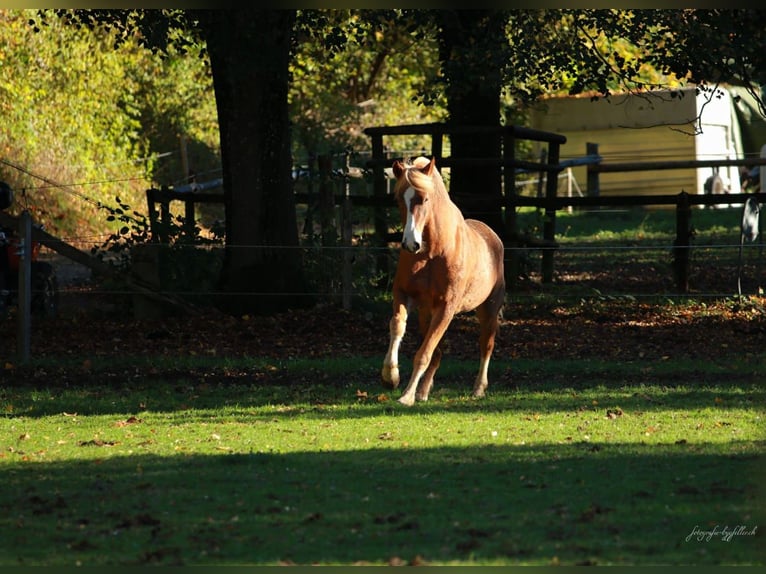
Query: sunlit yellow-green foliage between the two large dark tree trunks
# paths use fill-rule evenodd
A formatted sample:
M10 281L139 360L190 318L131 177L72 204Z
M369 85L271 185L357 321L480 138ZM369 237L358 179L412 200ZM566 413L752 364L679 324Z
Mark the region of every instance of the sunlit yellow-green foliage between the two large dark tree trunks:
M439 70L433 36L416 33L401 10L308 10L290 67L297 158L366 150L365 127L445 118L442 101L418 105ZM424 138L391 138L400 152L430 147Z

